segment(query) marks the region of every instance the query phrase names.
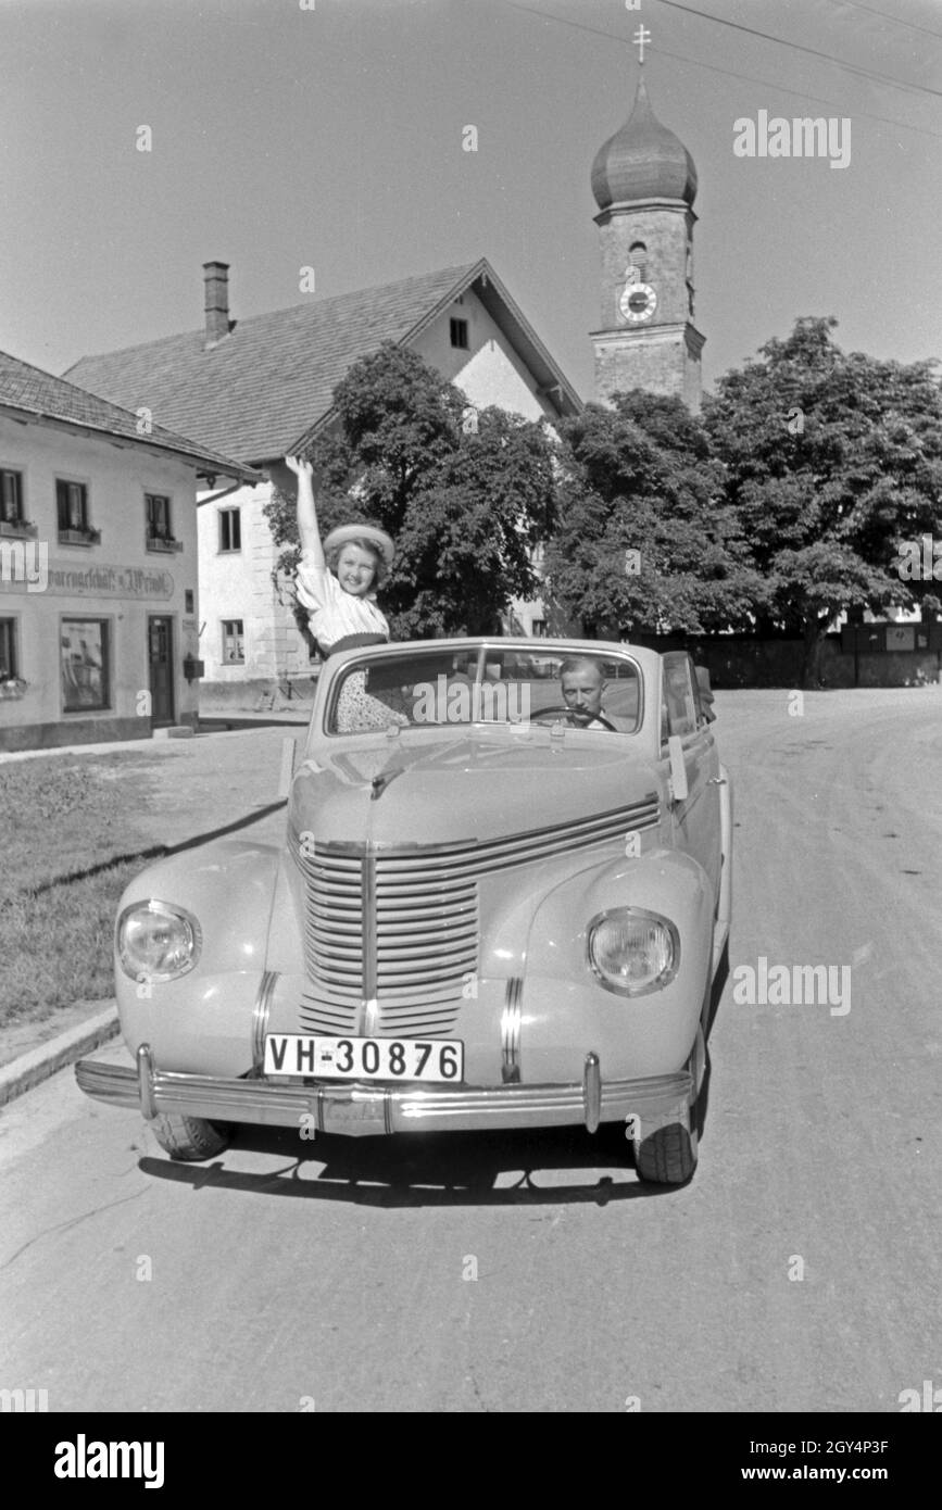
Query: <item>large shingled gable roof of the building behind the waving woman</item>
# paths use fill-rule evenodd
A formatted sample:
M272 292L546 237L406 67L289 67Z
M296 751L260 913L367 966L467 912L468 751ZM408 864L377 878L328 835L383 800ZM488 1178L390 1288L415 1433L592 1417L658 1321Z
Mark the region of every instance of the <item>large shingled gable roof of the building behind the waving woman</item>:
M68 378L127 408L146 405L245 462L269 462L300 448L328 420L334 388L358 358L383 341L409 344L468 288L557 412L577 414L578 394L485 258L236 320L210 347L199 329L83 356Z

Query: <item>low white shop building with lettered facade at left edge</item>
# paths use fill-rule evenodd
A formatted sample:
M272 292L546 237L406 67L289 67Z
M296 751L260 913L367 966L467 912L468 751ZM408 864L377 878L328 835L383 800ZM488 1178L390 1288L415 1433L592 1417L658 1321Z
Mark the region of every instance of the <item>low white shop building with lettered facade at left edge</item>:
M0 749L195 725L196 488L249 468L0 352Z

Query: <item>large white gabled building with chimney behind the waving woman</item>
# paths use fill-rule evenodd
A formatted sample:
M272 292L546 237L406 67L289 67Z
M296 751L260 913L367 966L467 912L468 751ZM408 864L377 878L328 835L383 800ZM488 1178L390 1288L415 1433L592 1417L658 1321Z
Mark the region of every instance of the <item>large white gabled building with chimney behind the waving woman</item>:
M358 358L396 341L469 405L530 420L581 403L485 260L245 320L229 317L225 263L204 264L204 291L202 331L85 356L68 376L263 473L258 485L199 498L204 698L245 705L309 672L308 645L272 580L279 548L263 509L273 488L293 494L284 456L331 426L334 388ZM540 633L539 601L519 604L518 621Z

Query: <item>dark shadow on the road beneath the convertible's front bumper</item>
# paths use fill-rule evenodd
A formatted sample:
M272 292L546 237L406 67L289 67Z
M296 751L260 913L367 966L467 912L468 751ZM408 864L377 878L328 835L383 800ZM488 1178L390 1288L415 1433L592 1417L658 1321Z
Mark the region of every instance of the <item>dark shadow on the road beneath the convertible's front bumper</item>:
M272 1173L249 1173L228 1169L220 1160L201 1166L145 1155L139 1169L195 1191L237 1190L380 1208L607 1206L684 1188L645 1185L634 1176L620 1123L605 1123L596 1134L584 1128L439 1132L421 1139L317 1134L312 1142L302 1142L290 1128L240 1126L231 1149L275 1155L284 1164ZM604 1169L613 1173L601 1173ZM560 1172L572 1178L560 1182ZM580 1172L586 1178L580 1179ZM515 1176L513 1184L498 1185L507 1175Z

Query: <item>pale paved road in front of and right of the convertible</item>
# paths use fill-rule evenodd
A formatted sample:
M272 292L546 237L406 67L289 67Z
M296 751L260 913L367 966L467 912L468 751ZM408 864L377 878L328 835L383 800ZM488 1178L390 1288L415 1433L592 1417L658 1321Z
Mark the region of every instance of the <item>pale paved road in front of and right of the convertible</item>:
M581 1132L257 1134L174 1166L65 1072L0 1117L0 1386L50 1410L895 1412L942 1383L942 693L719 707L734 975L690 1187L651 1194ZM850 1010L737 1003L759 956L850 966Z

